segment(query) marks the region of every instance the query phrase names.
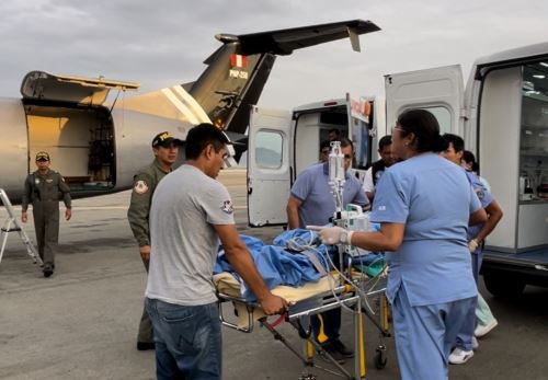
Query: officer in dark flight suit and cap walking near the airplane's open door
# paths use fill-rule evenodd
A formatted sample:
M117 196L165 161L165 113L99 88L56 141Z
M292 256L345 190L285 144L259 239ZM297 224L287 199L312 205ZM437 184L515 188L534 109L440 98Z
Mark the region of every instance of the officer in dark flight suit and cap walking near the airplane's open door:
M21 220L26 223L28 204L33 205L34 229L38 243L38 254L44 262L44 277L49 277L55 269L55 249L59 239L59 199L66 206L65 219L72 216L70 188L62 175L49 169L49 154L36 153L38 170L25 180Z

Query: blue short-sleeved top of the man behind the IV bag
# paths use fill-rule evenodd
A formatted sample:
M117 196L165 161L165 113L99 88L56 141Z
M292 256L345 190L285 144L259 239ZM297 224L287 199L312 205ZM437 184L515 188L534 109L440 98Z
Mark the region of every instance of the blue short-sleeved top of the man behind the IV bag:
M316 224L323 226L329 222L335 211L335 200L329 185L329 166L319 163L305 169L293 184L292 195L302 204L299 207L299 227ZM343 187L343 205L355 204L366 206L369 204L362 184L346 172Z

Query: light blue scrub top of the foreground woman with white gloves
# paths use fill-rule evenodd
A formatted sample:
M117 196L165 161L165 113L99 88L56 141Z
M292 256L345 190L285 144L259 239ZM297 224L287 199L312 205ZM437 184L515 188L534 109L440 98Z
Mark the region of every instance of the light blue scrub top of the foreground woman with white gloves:
M387 254L391 302L402 285L411 306L477 295L466 233L480 208L465 171L438 154L419 154L385 172L370 220L406 224L400 247Z

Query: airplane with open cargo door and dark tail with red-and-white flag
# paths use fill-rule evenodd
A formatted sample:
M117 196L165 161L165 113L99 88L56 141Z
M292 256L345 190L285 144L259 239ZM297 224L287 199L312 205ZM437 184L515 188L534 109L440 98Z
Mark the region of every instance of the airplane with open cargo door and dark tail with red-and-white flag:
M128 189L136 171L151 161L152 137L168 130L184 140L199 123L213 123L232 140L244 137L276 56L379 31L370 21L351 20L253 34L218 34L222 44L190 83L124 96L138 83L28 72L22 99L0 97L0 188L21 201L23 183L38 151L47 151L73 198ZM110 91L115 100L106 103ZM123 94L123 96L119 96Z

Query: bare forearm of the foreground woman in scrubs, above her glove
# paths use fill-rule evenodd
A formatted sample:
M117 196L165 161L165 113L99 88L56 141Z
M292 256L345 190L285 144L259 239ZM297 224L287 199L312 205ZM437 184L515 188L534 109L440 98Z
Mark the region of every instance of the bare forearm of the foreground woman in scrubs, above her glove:
M403 223L380 223L380 231L354 232L352 241L354 246L369 251L397 251L403 241Z

